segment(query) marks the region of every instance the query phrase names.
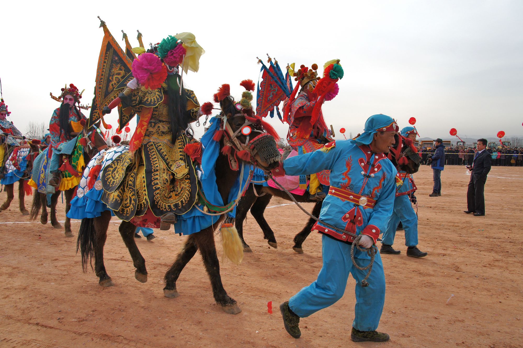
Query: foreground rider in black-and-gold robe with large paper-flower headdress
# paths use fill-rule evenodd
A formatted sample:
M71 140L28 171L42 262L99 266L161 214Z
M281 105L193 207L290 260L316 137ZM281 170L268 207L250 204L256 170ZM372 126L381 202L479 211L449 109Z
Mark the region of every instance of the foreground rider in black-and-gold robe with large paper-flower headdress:
M198 71L205 51L189 32L169 35L147 51L133 51L139 53L132 63L134 79L103 113L121 103L119 129L135 114L140 120L129 152L104 168L101 199L125 221L149 227L161 217L161 229L169 229L176 214L186 213L196 201L196 171L183 149L193 141L189 124L202 113L194 91L183 88L182 76L189 69ZM123 184L117 188L113 182ZM122 201L119 194L130 199Z

